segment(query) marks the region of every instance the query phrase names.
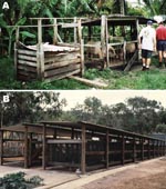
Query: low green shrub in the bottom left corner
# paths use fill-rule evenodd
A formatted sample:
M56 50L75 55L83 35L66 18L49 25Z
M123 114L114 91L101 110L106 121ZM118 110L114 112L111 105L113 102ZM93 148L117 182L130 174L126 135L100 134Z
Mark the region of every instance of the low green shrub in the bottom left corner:
M42 185L43 179L34 176L25 180L24 172L9 173L0 178L1 189L32 189Z

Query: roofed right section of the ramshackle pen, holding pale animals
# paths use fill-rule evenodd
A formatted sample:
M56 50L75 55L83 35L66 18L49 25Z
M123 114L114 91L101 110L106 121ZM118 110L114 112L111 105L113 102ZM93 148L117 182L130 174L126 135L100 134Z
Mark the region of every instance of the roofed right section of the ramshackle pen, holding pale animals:
M102 61L103 67L124 67L124 70L129 70L132 64L138 62L137 37L141 26L146 24L147 20L143 17L113 14L82 22L85 64ZM96 41L100 43L96 44ZM94 52L96 46L102 56Z

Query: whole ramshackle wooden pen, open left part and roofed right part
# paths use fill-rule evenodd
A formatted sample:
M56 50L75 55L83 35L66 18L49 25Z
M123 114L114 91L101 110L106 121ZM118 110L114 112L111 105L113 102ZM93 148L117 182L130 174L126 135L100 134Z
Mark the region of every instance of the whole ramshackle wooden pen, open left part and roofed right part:
M82 77L84 66L97 63L128 70L138 60L137 34L146 22L146 18L125 16L33 18L33 24L17 27L17 78L52 81L73 74ZM32 29L37 39L25 36Z

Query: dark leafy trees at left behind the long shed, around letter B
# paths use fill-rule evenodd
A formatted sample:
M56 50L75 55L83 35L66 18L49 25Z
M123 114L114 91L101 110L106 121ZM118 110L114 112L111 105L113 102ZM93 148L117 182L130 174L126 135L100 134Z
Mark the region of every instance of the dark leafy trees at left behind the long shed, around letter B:
M9 102L3 97L9 97ZM0 92L1 126L56 119L66 106L55 92Z

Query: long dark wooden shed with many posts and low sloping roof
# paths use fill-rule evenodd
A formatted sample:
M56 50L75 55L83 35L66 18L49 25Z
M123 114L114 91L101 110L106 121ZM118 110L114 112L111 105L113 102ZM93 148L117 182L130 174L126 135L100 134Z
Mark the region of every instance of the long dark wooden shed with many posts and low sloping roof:
M83 121L45 121L0 129L0 165L65 167L85 173L165 153L164 140Z

